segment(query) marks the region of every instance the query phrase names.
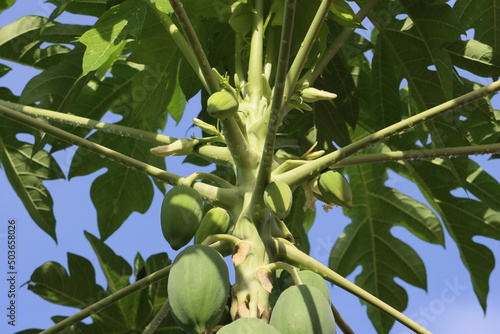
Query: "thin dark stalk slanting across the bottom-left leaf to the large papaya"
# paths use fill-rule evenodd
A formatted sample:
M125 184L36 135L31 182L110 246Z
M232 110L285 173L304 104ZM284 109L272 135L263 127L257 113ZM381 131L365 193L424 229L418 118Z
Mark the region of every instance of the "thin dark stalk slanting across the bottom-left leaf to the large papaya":
M97 303L94 303L94 304L84 308L83 310L72 315L71 317L68 317L68 318L58 322L54 326L40 332L40 334L55 334L55 333L59 333L65 329L70 328L74 324L84 320L87 317L90 317L92 314L99 312L103 308L108 307L109 305L111 305L113 303L116 303L120 299L127 297L128 295L136 292L137 290L143 289L152 283L155 283L161 279L166 278L168 276L171 268L172 268L172 265L169 265L163 269L160 269L160 270L138 280L137 282L134 282L134 283L114 292L113 294L107 296L106 298L101 299Z

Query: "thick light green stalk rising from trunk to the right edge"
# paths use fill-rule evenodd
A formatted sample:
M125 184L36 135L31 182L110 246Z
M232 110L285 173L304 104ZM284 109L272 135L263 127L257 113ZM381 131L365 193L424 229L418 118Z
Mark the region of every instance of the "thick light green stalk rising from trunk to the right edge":
M276 176L276 178L288 183L291 187L298 186L303 182L309 180L310 178L320 174L323 170L325 170L329 166L347 158L350 155L353 155L354 153L372 144L385 140L406 129L410 129L415 125L430 120L434 117L443 115L444 113L450 110L461 107L467 103L480 99L486 95L492 94L498 90L500 90L500 80L495 81L487 86L483 86L467 94L464 94L453 100L447 101L438 106L430 108L417 115L409 117L403 121L390 125L358 141L355 141L354 143L351 143L337 151L327 154L314 161L305 163L304 165L292 169L288 172L280 174Z

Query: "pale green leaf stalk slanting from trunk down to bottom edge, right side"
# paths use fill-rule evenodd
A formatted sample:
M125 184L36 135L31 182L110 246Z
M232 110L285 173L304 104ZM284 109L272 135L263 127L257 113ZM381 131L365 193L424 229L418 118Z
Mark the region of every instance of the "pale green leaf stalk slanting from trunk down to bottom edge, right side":
M382 300L370 294L368 291L360 288L356 284L340 276L321 262L303 253L294 246L279 240L274 240L273 246L275 247L275 251L277 252L279 259L288 260L289 262L297 264L302 269L312 270L320 274L326 280L334 283L338 287L352 293L353 295L363 299L376 308L386 312L388 315L390 315L415 333L431 334L431 332L429 332L427 329L417 324L415 321L408 318L406 315L402 314L389 304L383 302Z

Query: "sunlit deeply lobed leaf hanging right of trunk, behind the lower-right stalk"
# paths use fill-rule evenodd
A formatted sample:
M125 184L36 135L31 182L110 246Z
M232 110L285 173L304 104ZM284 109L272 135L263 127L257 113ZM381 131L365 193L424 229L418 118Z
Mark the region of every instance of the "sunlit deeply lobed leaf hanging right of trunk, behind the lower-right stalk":
M408 295L394 278L427 289L424 263L406 243L391 234L403 226L422 240L444 244L441 223L422 203L384 185L387 179L381 165L346 168L353 191L352 209L344 214L352 219L332 248L329 265L342 276L362 266L355 283L403 311ZM368 306L368 315L379 333L388 333L394 319Z

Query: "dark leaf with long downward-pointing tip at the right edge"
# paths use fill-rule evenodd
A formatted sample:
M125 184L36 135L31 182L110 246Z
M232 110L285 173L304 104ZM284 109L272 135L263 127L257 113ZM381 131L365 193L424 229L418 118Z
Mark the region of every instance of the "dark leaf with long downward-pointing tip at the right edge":
M500 240L500 185L476 164L469 163L471 167L468 170L465 189L477 194L482 202L450 193L460 187L443 159L406 162L405 165L409 168L407 177L417 181L456 242L462 262L471 276L474 292L483 310L486 310L489 277L495 267L495 259L492 251L473 241L473 237L480 235ZM485 189L479 189L480 186L485 186Z

